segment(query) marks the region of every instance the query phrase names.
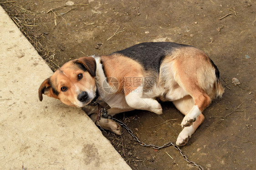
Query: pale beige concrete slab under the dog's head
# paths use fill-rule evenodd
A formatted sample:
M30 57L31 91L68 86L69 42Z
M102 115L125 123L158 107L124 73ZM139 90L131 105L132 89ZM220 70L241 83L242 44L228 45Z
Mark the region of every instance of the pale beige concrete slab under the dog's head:
M52 71L1 7L0 49L0 169L131 169L81 109L39 101Z

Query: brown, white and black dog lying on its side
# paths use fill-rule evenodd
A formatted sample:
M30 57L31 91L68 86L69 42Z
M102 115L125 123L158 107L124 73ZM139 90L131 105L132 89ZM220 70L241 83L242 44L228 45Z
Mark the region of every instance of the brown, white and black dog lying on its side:
M108 115L134 109L162 114L157 101L172 101L185 115L176 144L185 145L204 121L205 107L224 92L219 70L201 50L169 42L142 43L108 56L78 58L65 63L39 88L42 94L84 110L93 121L97 96L111 107ZM101 118L99 126L120 135L121 127Z

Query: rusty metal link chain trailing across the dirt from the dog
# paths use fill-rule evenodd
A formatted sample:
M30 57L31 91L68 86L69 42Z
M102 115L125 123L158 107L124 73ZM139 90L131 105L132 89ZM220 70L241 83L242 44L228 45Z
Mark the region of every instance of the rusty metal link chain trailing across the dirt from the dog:
M183 157L183 159L184 159L185 161L187 161L190 165L196 166L199 170L204 170L202 166L197 165L195 162L189 160L189 159L187 158L187 156L180 150L179 146L173 144L173 142L169 141L168 143L164 144L163 146L156 146L156 145L151 145L151 144L148 145L148 144L146 144L146 143L144 143L144 142L142 142L142 141L139 141L139 140L138 140L138 137L133 134L133 131L132 131L131 129L129 129L128 126L127 126L126 124L124 124L122 121L119 121L119 120L117 120L117 119L115 119L115 118L112 118L112 119L113 119L114 121L117 121L117 122L119 123L119 125L123 126L123 127L128 131L128 133L129 133L131 136L133 136L134 141L138 141L138 143L139 143L141 146L147 146L147 147L154 148L154 149L157 149L157 150L162 149L162 148L165 148L165 147L168 147L168 146L174 146L174 148L179 151L179 153L182 155L182 157Z

